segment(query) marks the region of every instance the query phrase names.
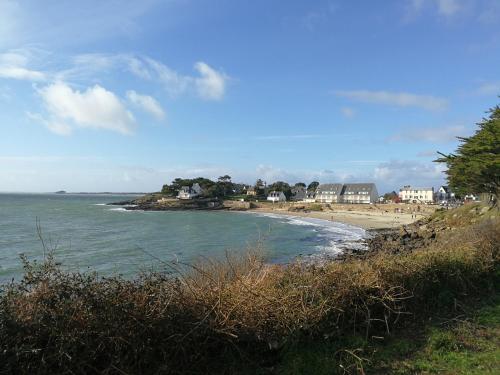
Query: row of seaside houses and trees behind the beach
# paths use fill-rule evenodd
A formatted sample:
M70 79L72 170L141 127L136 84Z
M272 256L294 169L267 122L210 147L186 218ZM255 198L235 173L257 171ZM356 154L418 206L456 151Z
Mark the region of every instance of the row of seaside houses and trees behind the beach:
M231 183L232 184L232 183ZM268 202L304 202L304 203L342 203L342 204L375 204L375 203L409 203L409 204L439 204L442 206L456 206L461 203L477 201L479 197L469 194L461 199L448 186L414 187L405 185L399 192L392 191L379 195L374 183L328 183L312 182L309 186L297 183L290 186L284 182L267 185L258 180L253 186L232 184L227 198L241 201L268 201ZM198 182L191 186L185 185L178 190L177 199L192 200L205 196L205 190ZM224 194L226 195L226 194Z

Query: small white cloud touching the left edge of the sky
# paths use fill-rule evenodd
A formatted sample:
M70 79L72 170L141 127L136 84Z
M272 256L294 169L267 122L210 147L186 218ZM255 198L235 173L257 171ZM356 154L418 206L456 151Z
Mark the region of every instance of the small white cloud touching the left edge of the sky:
M43 81L46 74L27 67L29 54L27 51L15 50L0 54L0 78L11 78L28 81Z

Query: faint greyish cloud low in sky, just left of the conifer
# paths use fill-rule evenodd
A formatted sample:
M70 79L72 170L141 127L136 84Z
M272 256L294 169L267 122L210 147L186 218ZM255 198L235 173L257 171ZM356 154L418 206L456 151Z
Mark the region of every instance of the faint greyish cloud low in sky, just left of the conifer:
M468 135L469 130L463 125L438 126L435 128L415 128L406 130L388 138L389 141L447 143L457 137Z

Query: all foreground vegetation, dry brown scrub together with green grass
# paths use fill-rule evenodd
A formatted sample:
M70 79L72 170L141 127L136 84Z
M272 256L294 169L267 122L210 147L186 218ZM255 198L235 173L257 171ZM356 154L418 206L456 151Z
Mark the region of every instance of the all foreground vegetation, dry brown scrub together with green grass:
M323 266L228 255L124 280L67 273L51 256L25 259L24 279L0 296L0 372L466 373L483 359L495 366L498 300L477 318L467 306L498 293L498 217L479 206L438 212L427 225L449 229L423 248Z

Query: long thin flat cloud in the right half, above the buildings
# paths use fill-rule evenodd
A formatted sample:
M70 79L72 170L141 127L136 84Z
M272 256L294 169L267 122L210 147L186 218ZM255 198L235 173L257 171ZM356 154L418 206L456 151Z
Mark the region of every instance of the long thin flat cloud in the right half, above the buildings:
M397 107L417 107L429 111L444 110L448 100L431 95L417 95L407 92L370 91L370 90L338 90L335 94L365 103L384 104Z

